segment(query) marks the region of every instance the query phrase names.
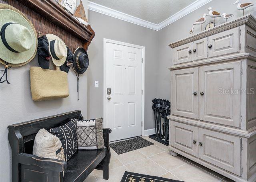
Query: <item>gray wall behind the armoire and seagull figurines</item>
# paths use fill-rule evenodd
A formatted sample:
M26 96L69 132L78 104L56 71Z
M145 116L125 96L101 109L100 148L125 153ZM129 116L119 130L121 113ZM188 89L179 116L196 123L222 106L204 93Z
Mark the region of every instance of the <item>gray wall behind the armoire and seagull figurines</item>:
M226 14L234 14L235 16L230 18L228 21L234 20L243 15L242 11L236 9L236 5L233 3L236 0L212 0L208 4L198 8L194 12L180 18L176 22L164 27L158 31L158 90L157 97L159 98L170 98L170 71L168 68L172 65L172 51L168 46L170 43L184 39L185 37L191 36L189 34L193 23L203 16L204 13L208 13L207 8L210 6L213 10L217 12ZM245 2L245 1L242 1ZM246 2L254 2L252 0L247 0ZM253 12L255 16L256 6L252 6L244 10L244 14ZM213 18L207 16L206 22L202 24L202 29L209 23L213 22ZM226 20L223 18L215 18L215 24L219 25L225 23ZM194 25L194 34L200 31L200 25Z

